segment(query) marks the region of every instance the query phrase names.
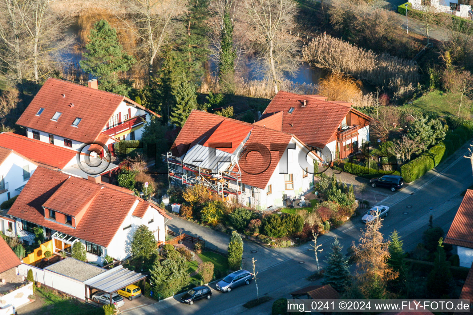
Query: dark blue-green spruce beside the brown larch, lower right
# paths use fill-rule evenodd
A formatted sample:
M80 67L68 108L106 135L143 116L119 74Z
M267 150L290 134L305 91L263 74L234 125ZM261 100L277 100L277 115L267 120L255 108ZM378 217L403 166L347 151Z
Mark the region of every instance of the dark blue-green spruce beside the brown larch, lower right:
M324 284L330 284L333 289L343 292L351 284L350 270L348 269L348 259L343 255L343 246L338 238L332 243L332 251L328 254L324 268Z

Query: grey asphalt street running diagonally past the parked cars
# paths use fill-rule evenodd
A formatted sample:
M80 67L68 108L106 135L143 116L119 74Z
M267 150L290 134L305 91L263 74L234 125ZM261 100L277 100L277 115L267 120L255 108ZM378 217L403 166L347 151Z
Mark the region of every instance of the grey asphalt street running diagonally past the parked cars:
M385 237L394 229L398 230L404 241L404 249L412 250L417 243L421 242L422 231L427 229L430 214L434 218L434 225L442 227L447 232L461 203L462 193L473 184L470 161L463 158L466 147L467 145L412 185L404 187L379 203L391 207L381 230ZM329 245L335 236L339 238L346 250L352 242L358 242L360 229L363 226L359 217L356 217L337 230L320 236L318 244L323 244L321 248L324 248L324 251L319 254L321 266L324 264L324 256L329 252ZM265 264L263 268L258 268L257 265L257 270L260 270L257 276L259 295L268 295L276 299L310 284L305 278L315 272L316 267L314 252L309 248L310 244L307 243L300 247L266 249L267 255L281 255L282 258L276 259L271 265L270 263ZM264 253L263 251L261 255ZM212 284L210 287L215 288ZM192 306L181 304L178 300L180 296L176 296L159 303L127 310L123 314L233 315L271 313L272 302L250 310L246 310L242 306L245 302L256 298L254 281L249 286L237 288L230 293L220 293L215 290L212 290L212 293L210 300L197 301Z

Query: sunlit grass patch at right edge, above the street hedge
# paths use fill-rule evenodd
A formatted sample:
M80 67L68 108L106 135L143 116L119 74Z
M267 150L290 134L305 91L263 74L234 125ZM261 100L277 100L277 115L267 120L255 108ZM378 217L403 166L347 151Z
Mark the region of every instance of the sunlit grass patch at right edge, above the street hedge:
M470 117L471 101L464 97L460 113ZM441 91L432 91L422 95L414 100L412 104L405 104L405 107L418 108L424 111L435 111L439 115L457 115L458 105L460 104L460 95L453 93L444 93Z

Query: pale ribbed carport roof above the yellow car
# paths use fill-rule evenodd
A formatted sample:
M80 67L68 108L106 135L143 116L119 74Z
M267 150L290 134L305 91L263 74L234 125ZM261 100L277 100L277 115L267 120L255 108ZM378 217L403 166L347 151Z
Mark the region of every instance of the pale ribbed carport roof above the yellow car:
M114 293L127 285L145 278L146 275L128 270L123 268L122 265L119 265L84 281L84 284L92 289L97 289L106 293Z

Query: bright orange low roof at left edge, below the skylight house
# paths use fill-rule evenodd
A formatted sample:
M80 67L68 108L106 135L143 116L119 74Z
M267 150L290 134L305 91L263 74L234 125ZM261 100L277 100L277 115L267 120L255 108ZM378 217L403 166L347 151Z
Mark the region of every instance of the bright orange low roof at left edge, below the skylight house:
M64 168L77 154L76 151L11 132L0 134L0 146L12 149L36 163L58 169Z

